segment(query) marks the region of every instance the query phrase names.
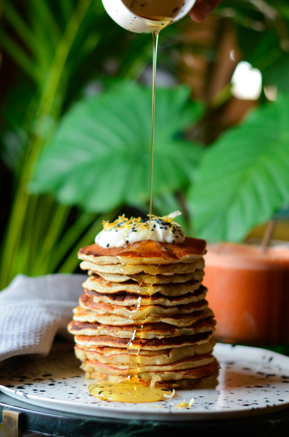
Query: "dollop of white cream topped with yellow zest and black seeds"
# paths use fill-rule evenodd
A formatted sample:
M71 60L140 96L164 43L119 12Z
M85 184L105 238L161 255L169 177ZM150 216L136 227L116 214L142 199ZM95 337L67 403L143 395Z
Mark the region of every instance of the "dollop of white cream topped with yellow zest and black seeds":
M174 222L174 218L181 215L175 211L163 217L151 216L151 240L162 243L183 243L185 232ZM147 240L149 236L149 219L141 217L126 218L123 215L109 223L103 221L103 230L96 237L95 242L101 247L124 247L127 244Z

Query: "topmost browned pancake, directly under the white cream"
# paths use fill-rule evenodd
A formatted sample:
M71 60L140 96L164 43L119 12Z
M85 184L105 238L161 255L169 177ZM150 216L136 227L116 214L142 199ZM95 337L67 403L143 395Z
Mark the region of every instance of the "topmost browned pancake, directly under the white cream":
M206 241L186 237L182 244L160 243L152 240L127 244L124 247L82 247L80 260L94 264L173 264L192 262L206 253Z

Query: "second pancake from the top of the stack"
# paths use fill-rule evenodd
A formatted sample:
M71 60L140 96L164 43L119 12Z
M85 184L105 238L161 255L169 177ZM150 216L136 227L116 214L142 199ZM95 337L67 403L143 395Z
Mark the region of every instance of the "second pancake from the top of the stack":
M150 275L172 275L192 273L196 269L201 270L205 267L203 258L194 261L193 263L175 263L175 264L94 264L91 261L83 261L80 263L80 268L83 270L92 270L100 273L110 274L137 274L146 273Z

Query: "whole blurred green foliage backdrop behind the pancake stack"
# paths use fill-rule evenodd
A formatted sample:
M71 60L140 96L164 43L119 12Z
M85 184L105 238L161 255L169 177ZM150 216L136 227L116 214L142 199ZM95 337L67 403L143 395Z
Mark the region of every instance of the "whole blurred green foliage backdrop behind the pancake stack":
M148 212L152 43L100 0L1 7L3 288L75 271L103 219ZM278 213L289 239L288 69L286 0L223 0L162 31L155 214L180 209L213 242L261 236Z

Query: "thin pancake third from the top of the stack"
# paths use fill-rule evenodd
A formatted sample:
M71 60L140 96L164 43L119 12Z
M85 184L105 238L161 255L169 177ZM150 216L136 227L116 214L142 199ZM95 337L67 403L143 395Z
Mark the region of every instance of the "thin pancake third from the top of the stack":
M83 268L83 263L80 263L80 267ZM86 270L86 269L84 269ZM179 283L187 282L187 281L199 281L204 276L203 269L197 269L193 271L192 273L185 273L185 274L172 274L170 276L168 275L150 275L145 273L138 273L138 274L131 274L131 275L124 275L124 274L118 274L118 273L103 273L98 272L99 276L101 276L106 281L110 282L125 282L129 279L132 279L133 281L137 281L140 285L142 284L168 284L169 282L172 283Z

